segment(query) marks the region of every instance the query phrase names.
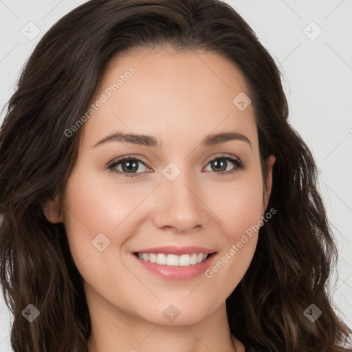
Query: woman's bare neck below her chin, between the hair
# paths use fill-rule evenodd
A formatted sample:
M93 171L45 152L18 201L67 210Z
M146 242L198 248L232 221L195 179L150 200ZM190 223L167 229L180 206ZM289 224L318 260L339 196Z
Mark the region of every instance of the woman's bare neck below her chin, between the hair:
M160 325L144 320L86 290L91 318L88 352L243 352L231 336L225 303L193 324Z

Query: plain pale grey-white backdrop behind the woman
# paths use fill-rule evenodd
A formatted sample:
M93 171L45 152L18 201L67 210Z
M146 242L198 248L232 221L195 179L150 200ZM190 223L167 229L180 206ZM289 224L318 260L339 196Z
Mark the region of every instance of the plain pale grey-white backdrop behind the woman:
M0 109L41 36L83 2L0 0ZM352 1L225 2L248 21L283 72L290 121L314 153L338 241L333 300L352 327ZM0 352L12 351L10 321L1 297Z

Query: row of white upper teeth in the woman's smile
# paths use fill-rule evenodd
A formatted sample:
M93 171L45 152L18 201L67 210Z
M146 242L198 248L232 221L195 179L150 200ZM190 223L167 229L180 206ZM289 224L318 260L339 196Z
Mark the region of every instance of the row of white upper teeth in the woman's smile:
M156 263L159 265L180 267L195 265L205 261L208 258L208 254L203 253L182 254L181 256L164 253L138 253L137 255L139 259L142 259L142 261L150 261L151 263Z

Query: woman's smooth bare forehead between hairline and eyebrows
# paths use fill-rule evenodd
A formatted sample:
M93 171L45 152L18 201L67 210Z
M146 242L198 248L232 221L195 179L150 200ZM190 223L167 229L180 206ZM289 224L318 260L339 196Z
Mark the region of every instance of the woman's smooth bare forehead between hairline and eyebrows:
M241 111L233 101L239 94L250 96L243 74L217 53L135 50L105 69L91 101L102 103L85 123L84 140L92 145L113 131L160 140L171 133L184 140L212 131L253 134L254 109Z

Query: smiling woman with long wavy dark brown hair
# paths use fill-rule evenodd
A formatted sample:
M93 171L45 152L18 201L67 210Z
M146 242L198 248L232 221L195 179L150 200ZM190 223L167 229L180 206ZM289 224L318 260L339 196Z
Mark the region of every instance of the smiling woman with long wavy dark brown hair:
M352 351L287 118L225 3L93 0L58 21L0 132L14 351Z

